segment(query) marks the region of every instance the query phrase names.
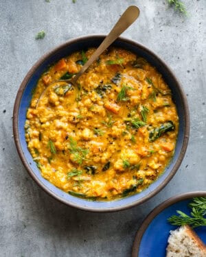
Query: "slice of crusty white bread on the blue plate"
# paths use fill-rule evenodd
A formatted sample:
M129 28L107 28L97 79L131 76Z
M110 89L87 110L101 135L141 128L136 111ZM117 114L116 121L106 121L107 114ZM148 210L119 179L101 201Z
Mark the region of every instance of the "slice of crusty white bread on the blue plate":
M206 257L206 245L189 225L170 231L166 257Z

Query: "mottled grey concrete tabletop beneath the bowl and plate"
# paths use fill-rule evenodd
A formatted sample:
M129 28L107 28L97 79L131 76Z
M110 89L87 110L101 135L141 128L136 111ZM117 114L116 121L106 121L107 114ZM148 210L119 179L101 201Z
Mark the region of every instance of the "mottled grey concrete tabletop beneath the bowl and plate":
M0 256L130 256L150 210L173 195L205 191L206 1L183 0L189 15L165 0L0 0ZM12 138L16 92L43 53L70 38L108 33L128 5L141 10L124 36L155 51L179 77L190 106L187 153L168 186L141 206L111 214L69 208L38 188ZM43 40L35 40L45 30Z

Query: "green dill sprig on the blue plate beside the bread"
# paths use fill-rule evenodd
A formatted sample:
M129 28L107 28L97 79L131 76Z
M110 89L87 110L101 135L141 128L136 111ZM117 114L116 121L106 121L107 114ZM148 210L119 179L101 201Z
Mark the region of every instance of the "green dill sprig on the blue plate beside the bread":
M168 221L172 225L190 225L191 228L206 225L206 197L195 197L189 207L192 209L190 216L181 210L176 210L179 216L173 215Z

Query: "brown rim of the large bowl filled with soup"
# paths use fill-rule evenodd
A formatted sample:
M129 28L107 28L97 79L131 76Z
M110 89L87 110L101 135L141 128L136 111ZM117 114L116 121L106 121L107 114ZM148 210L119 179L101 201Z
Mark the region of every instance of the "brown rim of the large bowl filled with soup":
M155 53L153 53L150 49L144 47L144 45L141 45L139 42L135 42L133 40L129 40L126 38L122 38L119 37L119 40L122 40L130 45L133 45L135 47L138 47L139 49L148 52L151 56L154 56L154 58L160 62L161 64L163 64L166 69L168 69L169 73L171 74L171 76L173 77L173 79L176 82L176 85L178 87L179 93L183 99L183 106L185 107L184 110L184 117L185 117L185 127L184 127L184 138L183 138L183 145L181 147L181 153L179 155L178 160L176 160L176 163L174 164L174 167L172 169L172 171L170 172L170 174L168 175L168 177L163 181L162 184L160 184L159 186L157 186L157 188L155 188L154 191L152 191L151 193L149 193L148 195L146 195L145 197L137 200L137 201L133 201L130 204L126 204L125 206L118 206L115 208L91 208L91 207L87 207L87 206L78 206L76 204L73 204L71 202L68 202L67 200L63 199L62 197L59 197L58 195L56 195L54 192L50 191L47 186L45 186L40 180L38 180L38 178L36 178L36 175L34 175L30 165L27 163L26 158L24 157L23 154L23 150L21 149L21 143L19 140L19 130L18 130L18 113L19 113L19 105L21 102L21 97L23 94L23 91L25 89L25 86L27 85L27 82L29 82L30 77L32 76L32 74L36 71L36 69L38 69L38 66L44 62L44 60L46 60L49 56L53 55L54 53L56 53L56 51L60 51L62 49L65 49L66 47L68 47L69 45L77 42L77 41L81 41L81 40L86 40L87 38L102 38L104 39L106 37L106 35L104 34L91 34L88 36L80 36L78 38L73 38L71 40L68 40L67 42L63 43L62 45L59 45L58 47L55 47L54 49L48 51L47 53L45 53L35 64L34 66L32 66L32 68L30 69L30 71L27 73L27 75L25 76L25 78L23 79L23 82L21 83L21 86L18 90L18 93L16 95L16 99L15 99L15 103L14 103L14 111L13 111L13 132L14 132L14 141L16 144L16 149L19 153L19 156L21 158L21 161L23 162L25 168L27 169L28 173L30 174L30 176L32 177L32 179L38 184L38 186L41 186L41 188L43 188L43 190L45 192L47 192L49 195L51 195L52 197L54 197L55 199L58 199L59 201L61 201L64 204L67 204L69 206L75 207L75 208L79 208L81 210L87 210L87 211L91 211L91 212L115 212L117 210L125 210L128 208L131 208L133 206L136 206L138 204L142 204L144 201L146 201L147 199L150 199L152 196L156 195L157 193L159 193L159 191L161 191L162 188L165 187L166 184L168 184L168 182L172 179L172 177L174 176L174 174L176 173L176 171L178 170L183 157L185 156L185 151L187 149L187 144L188 144L188 140L189 140L189 134L190 134L190 117L189 117L189 108L187 105L187 99L185 96L185 93L183 93L183 89L181 88L181 84L179 82L178 79L176 79L176 76L174 75L173 71L170 69L170 67L165 64L165 62L163 60L161 60L161 58L159 58Z

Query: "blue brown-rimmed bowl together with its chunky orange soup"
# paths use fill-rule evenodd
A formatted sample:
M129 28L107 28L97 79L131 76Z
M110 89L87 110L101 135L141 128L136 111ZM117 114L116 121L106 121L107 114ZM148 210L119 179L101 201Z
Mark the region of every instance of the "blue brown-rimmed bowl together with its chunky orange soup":
M97 212L141 204L176 173L189 111L155 53L118 38L73 86L104 35L69 40L27 73L14 103L14 140L34 181L69 206Z

